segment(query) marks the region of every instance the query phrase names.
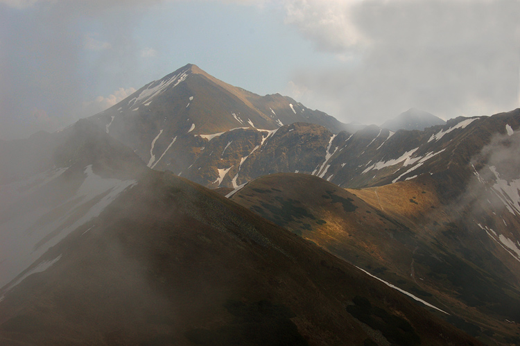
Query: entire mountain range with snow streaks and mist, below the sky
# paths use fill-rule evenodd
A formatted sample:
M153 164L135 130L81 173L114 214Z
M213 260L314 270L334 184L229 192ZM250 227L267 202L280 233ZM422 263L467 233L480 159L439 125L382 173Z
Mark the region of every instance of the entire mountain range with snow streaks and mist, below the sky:
M189 64L0 143L0 340L520 343L519 128L354 129Z

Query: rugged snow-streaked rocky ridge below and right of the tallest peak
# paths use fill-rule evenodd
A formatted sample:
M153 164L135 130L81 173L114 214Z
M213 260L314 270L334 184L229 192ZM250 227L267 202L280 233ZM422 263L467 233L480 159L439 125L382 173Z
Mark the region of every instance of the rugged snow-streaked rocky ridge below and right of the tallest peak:
M307 173L352 188L428 174L435 177L440 193L449 199L459 196L474 177L472 157L496 136L515 137L519 127L520 110L515 110L460 117L425 131L391 132L367 126L354 135L334 135L322 126L306 123L270 131L230 130L202 135L200 154L184 171L174 167L171 171L212 188L237 187L270 173Z

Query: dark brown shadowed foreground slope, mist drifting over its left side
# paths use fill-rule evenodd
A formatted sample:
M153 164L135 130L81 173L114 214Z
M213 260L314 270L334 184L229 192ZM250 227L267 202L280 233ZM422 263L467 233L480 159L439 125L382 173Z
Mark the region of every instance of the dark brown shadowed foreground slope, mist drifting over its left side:
M26 275L0 299L3 345L479 345L171 173L146 173Z

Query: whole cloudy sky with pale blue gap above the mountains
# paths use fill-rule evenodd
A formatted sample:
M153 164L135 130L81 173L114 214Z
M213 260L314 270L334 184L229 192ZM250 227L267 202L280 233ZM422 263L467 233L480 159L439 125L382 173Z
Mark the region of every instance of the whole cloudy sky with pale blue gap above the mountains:
M519 0L0 0L0 139L188 63L345 123L520 107Z

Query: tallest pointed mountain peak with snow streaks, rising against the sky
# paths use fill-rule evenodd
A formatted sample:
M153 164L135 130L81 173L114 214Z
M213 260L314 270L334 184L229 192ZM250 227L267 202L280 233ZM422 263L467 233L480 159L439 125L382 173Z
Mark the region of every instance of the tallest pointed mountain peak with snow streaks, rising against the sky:
M331 132L345 128L332 116L309 110L280 94L259 96L188 64L148 83L90 118L148 163L186 171L204 150L205 138L236 128L275 130L303 121Z

